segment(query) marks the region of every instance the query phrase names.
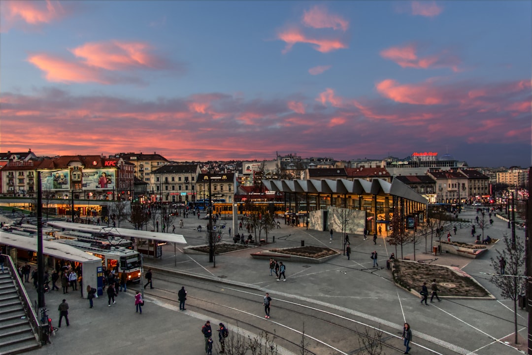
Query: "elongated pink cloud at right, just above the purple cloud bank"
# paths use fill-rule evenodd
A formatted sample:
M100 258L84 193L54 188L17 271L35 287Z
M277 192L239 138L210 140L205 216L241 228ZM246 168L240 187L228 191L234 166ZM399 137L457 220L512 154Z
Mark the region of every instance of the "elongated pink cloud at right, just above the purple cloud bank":
M438 105L447 102L441 93L428 83L400 85L395 80L386 79L377 83L376 88L379 94L399 103Z

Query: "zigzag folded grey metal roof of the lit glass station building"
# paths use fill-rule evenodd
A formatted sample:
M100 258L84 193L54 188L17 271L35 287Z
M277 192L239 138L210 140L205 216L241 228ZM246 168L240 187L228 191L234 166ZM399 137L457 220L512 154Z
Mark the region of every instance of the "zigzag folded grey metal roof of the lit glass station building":
M390 184L383 179L372 179L367 181L364 179L346 180L262 180L264 186L270 191L276 192L290 192L290 193L339 193L363 195L364 193L371 195L379 195L386 193L389 195L402 197L420 204L428 204L428 201L419 193L412 190L408 185L394 179Z

